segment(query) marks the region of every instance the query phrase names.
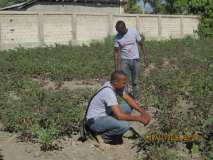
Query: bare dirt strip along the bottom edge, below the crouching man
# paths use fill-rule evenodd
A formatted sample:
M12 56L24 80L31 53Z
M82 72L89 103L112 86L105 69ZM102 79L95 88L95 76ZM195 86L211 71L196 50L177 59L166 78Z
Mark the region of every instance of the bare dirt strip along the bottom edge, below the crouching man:
M41 152L39 144L17 142L17 135L0 132L0 150L4 160L136 160L134 140L124 138L122 145L77 141L78 136L60 140L61 151Z

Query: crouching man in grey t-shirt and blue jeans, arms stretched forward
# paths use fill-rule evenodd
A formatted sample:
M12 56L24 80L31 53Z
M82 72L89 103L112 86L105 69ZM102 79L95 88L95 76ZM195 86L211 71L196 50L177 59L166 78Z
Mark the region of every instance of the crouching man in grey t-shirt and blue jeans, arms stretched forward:
M115 71L111 81L106 82L89 103L87 125L101 134L105 143L122 144L122 136L130 128L128 121L138 121L144 125L150 122L149 114L124 91L127 84L127 75L123 71ZM117 96L126 103L118 104ZM131 115L132 109L140 115Z

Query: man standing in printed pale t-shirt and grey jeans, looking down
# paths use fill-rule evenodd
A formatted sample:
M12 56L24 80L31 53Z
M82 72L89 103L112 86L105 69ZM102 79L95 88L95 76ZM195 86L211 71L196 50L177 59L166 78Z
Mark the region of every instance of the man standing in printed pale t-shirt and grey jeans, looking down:
M131 82L133 97L139 101L139 76L140 76L140 54L138 45L144 55L145 67L148 66L147 54L145 52L143 39L136 29L126 28L123 21L116 23L116 31L114 41L114 61L115 70L123 70Z

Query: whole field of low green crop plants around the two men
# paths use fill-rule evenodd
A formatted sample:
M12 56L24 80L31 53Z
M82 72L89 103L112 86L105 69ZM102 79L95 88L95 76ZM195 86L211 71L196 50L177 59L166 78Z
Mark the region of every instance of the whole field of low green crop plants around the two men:
M181 153L213 159L213 39L149 41L149 67L141 71L143 106L155 108L148 132L135 143L144 160L182 160ZM143 63L143 60L141 60ZM58 149L54 140L78 134L94 88L67 89L69 81L98 83L114 70L113 42L0 52L1 130L22 141ZM45 81L55 87L45 89ZM197 139L147 140L151 135ZM0 158L1 159L1 158Z

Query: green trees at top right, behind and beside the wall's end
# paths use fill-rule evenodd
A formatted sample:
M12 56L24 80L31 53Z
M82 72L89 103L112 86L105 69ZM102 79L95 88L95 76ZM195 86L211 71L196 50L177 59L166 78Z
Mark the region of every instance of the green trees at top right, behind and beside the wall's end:
M201 20L198 34L201 38L213 37L213 1L212 0L157 0L148 1L155 13L161 14L195 14Z

